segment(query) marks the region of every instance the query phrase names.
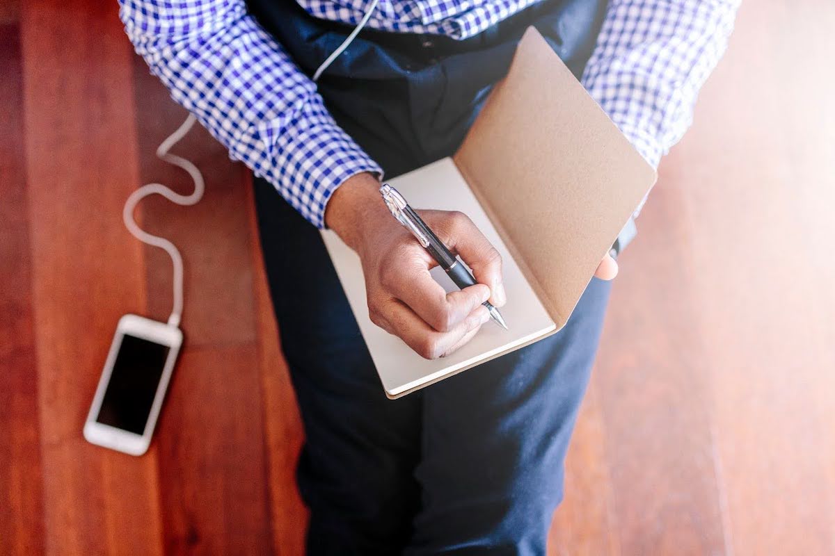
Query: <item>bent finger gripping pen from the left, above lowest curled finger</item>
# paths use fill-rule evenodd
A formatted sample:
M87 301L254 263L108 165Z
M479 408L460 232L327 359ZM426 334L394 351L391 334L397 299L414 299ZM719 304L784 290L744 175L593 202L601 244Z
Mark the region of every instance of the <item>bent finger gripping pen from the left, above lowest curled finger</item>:
M446 293L427 268L398 273L384 285L389 293L406 303L438 332L449 332L458 326L490 297L490 288L481 283Z

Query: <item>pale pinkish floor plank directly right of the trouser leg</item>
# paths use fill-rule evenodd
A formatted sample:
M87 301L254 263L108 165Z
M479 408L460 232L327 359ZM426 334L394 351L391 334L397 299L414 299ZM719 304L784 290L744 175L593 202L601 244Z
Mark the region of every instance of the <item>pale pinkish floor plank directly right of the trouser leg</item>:
M725 553L705 347L689 293L696 268L681 247L691 215L678 192L665 188L668 179L662 170L632 246L640 268L621 261L595 385L623 552ZM679 246L676 256L665 250L668 242ZM650 255L660 252L668 256Z

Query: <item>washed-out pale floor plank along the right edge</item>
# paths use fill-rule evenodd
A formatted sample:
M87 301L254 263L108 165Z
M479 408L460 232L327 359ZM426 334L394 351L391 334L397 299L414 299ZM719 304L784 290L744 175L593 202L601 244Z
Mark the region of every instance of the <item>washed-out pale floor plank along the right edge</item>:
M706 269L691 296L716 458L734 553L832 554L835 7L743 4L740 21L669 161Z

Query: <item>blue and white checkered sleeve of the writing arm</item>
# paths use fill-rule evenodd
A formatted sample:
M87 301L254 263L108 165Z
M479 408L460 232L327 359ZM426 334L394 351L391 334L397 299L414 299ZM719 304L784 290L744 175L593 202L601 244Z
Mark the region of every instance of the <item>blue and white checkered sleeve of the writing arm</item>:
M347 178L382 169L243 0L120 0L136 52L171 96L318 228Z

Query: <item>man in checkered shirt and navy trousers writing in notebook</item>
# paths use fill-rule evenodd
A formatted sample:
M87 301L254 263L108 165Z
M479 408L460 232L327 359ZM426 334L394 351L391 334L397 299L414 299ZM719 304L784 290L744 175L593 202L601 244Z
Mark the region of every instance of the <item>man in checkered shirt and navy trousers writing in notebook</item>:
M653 165L690 123L735 0L122 0L137 51L249 165L301 406L310 553L544 553L609 284L562 331L396 401L380 386L316 228L362 259L372 320L451 353L502 306L501 261L466 216L423 216L478 284L445 295L377 188L458 148L534 25ZM367 27L321 78L354 26ZM560 156L560 153L554 153ZM507 187L513 188L513 183ZM630 224L613 254L634 235ZM607 256L597 276L613 278Z

